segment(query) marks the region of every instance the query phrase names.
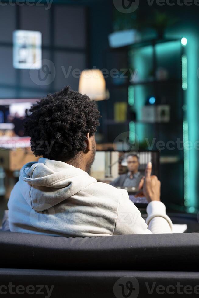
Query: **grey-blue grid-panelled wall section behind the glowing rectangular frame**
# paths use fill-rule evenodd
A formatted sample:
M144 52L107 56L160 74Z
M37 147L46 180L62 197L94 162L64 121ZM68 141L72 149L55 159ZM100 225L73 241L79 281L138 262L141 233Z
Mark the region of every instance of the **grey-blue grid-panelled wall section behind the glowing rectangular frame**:
M79 78L72 71L88 67L87 22L85 6L53 4L50 9L45 5L2 6L0 98L37 98L66 85L77 90ZM13 68L12 33L16 29L42 33L42 64L51 72L44 82L38 77L38 72L44 77L42 70Z

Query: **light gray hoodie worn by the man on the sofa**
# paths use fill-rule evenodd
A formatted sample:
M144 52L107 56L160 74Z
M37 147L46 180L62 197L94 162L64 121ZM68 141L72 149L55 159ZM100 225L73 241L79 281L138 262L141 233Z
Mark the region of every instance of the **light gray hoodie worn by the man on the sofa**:
M23 166L8 208L13 232L96 237L172 231L163 203L148 204L149 230L126 190L97 182L79 168L46 158Z

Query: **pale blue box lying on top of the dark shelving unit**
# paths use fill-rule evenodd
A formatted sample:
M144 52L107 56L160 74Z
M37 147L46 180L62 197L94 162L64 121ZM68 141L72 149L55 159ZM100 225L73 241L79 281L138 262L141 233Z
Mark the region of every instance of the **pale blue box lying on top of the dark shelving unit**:
M109 34L109 46L112 48L124 47L141 40L141 36L135 29L122 30Z

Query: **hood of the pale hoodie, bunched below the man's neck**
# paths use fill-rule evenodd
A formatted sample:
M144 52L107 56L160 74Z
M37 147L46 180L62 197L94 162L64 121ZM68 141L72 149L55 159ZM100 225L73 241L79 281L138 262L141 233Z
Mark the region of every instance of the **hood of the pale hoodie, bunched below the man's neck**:
M95 182L81 169L47 158L27 163L19 176L20 191L36 211L47 210Z

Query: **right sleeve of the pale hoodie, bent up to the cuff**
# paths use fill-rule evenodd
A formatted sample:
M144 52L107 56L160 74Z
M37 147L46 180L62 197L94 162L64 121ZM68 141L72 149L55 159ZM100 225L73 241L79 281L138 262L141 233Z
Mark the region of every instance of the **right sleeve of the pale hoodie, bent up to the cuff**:
M145 222L138 208L129 200L127 192L123 192L113 235L172 233L172 222L166 215L166 208L162 202L150 202L147 214Z

